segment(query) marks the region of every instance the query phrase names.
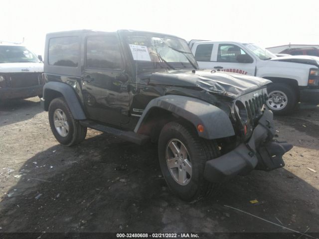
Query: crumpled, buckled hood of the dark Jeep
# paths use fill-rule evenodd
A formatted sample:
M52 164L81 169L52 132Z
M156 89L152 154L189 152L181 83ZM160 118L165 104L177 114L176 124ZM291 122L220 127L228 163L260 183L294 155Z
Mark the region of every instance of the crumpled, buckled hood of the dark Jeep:
M199 87L233 99L266 86L271 81L254 76L210 70L153 73L149 84L176 87Z

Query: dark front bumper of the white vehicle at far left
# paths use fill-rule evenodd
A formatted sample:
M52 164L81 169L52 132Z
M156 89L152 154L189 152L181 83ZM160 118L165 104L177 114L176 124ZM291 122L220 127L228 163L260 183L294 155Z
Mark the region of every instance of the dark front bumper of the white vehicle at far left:
M21 99L42 95L43 85L21 88L0 88L0 100Z

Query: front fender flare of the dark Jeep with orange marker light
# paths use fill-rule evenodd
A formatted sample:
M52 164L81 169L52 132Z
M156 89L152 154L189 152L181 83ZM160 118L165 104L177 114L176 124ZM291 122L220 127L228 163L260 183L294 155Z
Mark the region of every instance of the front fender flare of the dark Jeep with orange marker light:
M153 99L145 108L134 131L138 132L151 109L160 108L169 111L191 122L195 128L198 124L204 126L200 137L216 139L235 135L233 125L228 115L218 107L202 100L177 95L161 96Z

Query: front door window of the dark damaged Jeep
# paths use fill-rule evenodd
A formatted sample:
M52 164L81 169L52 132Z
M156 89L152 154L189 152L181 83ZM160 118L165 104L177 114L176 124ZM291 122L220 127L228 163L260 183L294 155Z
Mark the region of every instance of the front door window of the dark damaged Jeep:
M123 69L119 42L115 36L91 36L86 41L86 66Z

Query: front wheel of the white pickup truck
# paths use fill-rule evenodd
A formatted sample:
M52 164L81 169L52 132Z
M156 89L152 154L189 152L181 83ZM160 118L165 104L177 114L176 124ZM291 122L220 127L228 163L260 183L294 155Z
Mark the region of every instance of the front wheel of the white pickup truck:
M289 114L297 104L296 92L286 84L272 84L267 91L267 106L275 115Z

